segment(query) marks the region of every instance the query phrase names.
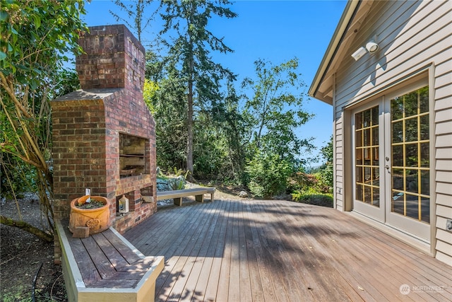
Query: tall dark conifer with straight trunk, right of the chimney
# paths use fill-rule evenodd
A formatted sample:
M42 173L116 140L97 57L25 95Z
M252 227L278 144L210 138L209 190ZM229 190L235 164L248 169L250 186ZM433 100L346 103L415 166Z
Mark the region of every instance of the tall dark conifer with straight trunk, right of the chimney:
M210 55L210 51L232 52L222 38L208 30L208 21L213 16L236 16L225 7L228 4L227 0L162 1L165 12L161 16L165 25L161 35L168 47L165 62L171 71L175 71L172 76L186 88L186 170L191 173L194 172L195 109L220 102L220 81L234 78L231 71L213 62Z

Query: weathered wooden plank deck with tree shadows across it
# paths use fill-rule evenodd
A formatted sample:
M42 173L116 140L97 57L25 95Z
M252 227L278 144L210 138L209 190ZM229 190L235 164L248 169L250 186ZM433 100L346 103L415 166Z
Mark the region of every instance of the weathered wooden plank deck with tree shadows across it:
M155 301L452 301L452 267L323 207L187 203L124 237L165 256Z

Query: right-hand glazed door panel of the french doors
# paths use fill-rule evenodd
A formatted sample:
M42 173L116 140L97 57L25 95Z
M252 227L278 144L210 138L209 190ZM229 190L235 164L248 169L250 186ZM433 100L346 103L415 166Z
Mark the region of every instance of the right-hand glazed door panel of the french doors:
M392 98L388 223L429 240L429 88Z

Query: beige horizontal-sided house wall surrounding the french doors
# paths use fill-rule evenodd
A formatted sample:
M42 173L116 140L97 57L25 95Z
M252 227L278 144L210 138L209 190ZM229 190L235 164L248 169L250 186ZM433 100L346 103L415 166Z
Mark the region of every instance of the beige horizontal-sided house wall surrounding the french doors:
M351 114L348 108L415 79L429 82L434 213L432 252L452 265L452 2L374 1L336 69L333 87L335 207L352 209ZM358 61L352 52L375 39L379 50ZM348 187L347 187L348 186ZM434 214L436 214L436 219Z

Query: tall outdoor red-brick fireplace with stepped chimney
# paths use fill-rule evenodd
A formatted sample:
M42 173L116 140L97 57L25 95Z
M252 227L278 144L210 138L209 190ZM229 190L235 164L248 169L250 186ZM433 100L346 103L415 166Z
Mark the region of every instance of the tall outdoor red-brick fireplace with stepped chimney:
M55 219L69 218L71 200L90 188L112 202L112 225L124 233L157 211L155 122L143 102L145 50L124 25L91 27L79 43L81 90L51 102ZM123 194L127 214L118 212Z

